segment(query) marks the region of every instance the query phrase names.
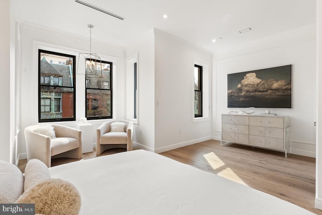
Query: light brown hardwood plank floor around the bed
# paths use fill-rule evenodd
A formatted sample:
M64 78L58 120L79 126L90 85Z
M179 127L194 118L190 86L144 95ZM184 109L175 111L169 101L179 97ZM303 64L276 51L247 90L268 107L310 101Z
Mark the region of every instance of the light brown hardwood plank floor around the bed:
M100 156L123 152L125 149L110 149ZM174 160L218 174L221 177L264 191L292 202L316 214L315 158L237 144L220 146L219 141L209 140L179 149L160 153ZM83 154L83 159L96 157L96 152ZM52 166L77 161L77 159L52 159ZM19 162L24 170L26 160Z

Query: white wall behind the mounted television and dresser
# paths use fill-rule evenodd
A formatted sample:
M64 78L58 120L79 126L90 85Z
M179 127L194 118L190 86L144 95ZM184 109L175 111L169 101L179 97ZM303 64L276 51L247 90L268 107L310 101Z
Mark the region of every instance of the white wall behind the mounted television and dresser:
M302 32L305 32L302 34ZM271 40L270 40L271 39ZM267 42L270 41L270 42ZM221 137L221 114L227 108L227 74L293 65L292 109L271 109L271 113L290 116L291 153L315 156L315 26L284 32L265 43L243 47L214 59L216 101L214 102L214 133ZM264 113L265 109L255 109Z

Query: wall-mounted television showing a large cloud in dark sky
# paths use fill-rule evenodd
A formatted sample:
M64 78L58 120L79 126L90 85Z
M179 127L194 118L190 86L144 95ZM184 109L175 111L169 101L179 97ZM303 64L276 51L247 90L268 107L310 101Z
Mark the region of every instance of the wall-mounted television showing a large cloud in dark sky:
M228 107L292 108L292 65L227 74Z

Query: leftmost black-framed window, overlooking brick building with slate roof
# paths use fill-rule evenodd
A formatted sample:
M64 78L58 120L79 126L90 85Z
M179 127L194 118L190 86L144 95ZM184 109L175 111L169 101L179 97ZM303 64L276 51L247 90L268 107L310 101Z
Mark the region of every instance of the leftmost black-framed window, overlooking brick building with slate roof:
M42 122L75 120L75 56L38 50L38 120ZM57 59L52 63L50 59ZM58 60L59 59L59 60Z

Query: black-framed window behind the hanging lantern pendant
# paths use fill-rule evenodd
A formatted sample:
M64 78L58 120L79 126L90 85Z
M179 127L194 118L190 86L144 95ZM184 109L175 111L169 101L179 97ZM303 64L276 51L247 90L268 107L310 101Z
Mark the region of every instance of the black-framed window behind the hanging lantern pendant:
M112 118L112 62L102 61L102 68L97 68L99 76L86 75L86 117L89 120Z

